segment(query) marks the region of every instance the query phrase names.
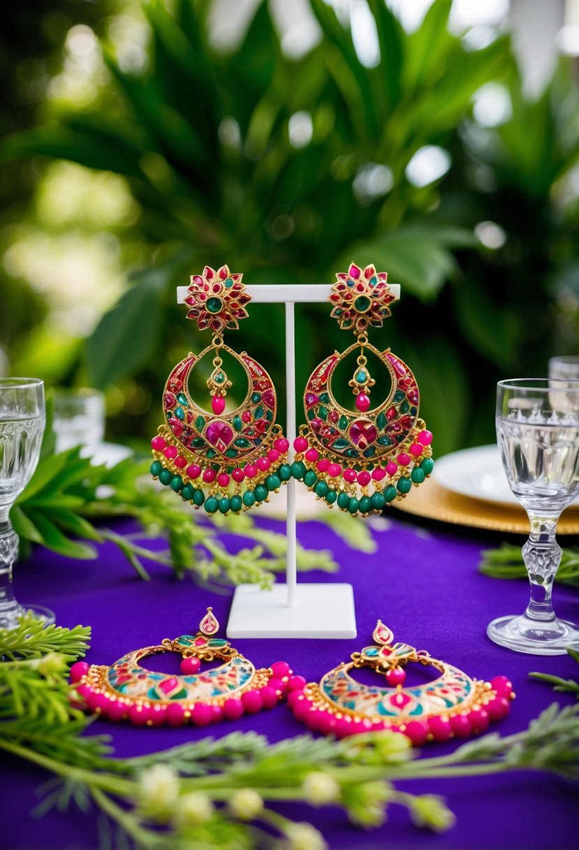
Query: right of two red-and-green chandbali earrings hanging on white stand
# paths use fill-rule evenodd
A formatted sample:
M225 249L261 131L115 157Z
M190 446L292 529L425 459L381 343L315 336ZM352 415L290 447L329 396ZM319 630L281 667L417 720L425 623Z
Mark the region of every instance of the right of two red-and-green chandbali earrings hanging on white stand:
M354 331L357 341L341 354L334 351L312 372L304 394L307 424L294 441L297 454L291 469L330 507L335 502L343 511L367 516L380 513L430 476L432 434L419 419L419 388L408 365L390 348L381 351L368 342L368 327L381 327L395 300L386 273L352 263L347 274L336 277L329 296L331 315L340 328ZM354 351L351 411L336 401L332 381L336 367ZM374 407L368 352L391 377L390 394Z

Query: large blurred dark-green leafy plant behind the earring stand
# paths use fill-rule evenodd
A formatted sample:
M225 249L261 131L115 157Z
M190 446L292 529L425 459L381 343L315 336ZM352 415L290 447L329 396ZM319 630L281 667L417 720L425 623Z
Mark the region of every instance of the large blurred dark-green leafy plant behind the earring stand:
M171 366L205 345L175 303L175 286L205 263L228 263L248 283L329 282L351 260L387 270L402 301L370 339L413 368L437 454L494 439L497 379L579 353L571 65L561 59L544 94L526 99L509 37L468 48L447 30L450 5L435 0L408 35L382 0L368 0L380 51L368 67L323 0L311 0L321 40L301 59L284 54L266 2L239 45L222 51L208 37L211 3L151 0L141 73L123 71L104 36L104 99L4 139L4 162L48 157L120 174L138 202L126 238L149 246L151 262L60 376L125 392L113 434L154 433ZM512 104L497 127L472 115L490 81ZM296 116L306 130L292 138ZM429 145L452 166L417 187L408 163ZM481 222L503 234L495 246L475 238ZM283 321L278 306L257 305L228 336L280 387ZM302 387L351 338L323 307L301 307L298 321Z

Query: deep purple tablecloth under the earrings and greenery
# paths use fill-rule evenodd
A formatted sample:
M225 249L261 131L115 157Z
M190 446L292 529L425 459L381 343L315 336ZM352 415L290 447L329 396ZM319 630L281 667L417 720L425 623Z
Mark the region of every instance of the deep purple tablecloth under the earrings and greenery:
M261 520L276 530L280 523ZM528 678L533 670L563 677L576 676L576 665L566 656L534 657L509 652L486 638L486 624L494 616L519 613L526 604L526 581L497 581L479 575L476 567L481 544L461 532L440 527L424 530L393 521L375 532L379 548L373 555L355 553L323 524L299 526L306 547L327 547L340 563L340 573L310 573L301 581L351 581L357 609L358 638L353 641L239 640L235 646L256 666L288 660L295 672L308 681L351 652L370 642L377 619L391 627L395 638L431 655L452 662L475 677L490 679L503 673L514 683L517 699L500 728L511 734L552 701L571 701L555 695L545 683ZM231 541L230 541L231 542ZM240 545L234 541L233 545ZM212 605L223 626L227 623L230 596L205 592L189 580L176 581L170 570L150 570L152 581L141 581L110 545L102 547L98 561L79 563L50 553L35 553L14 577L18 598L47 604L61 626L77 623L93 626L93 643L87 660L111 664L129 649L160 643L183 632L194 632L207 605ZM577 595L558 587L555 605L560 616L577 619ZM98 721L94 731L113 734L120 756L197 740L207 730L194 728L132 728ZM239 729L256 729L271 741L304 732L285 706L243 717L238 723L220 723L209 734L221 736ZM429 745L434 755L453 749L453 744ZM77 812L48 813L42 819L30 815L36 804L35 790L46 774L24 762L4 759L0 795L0 845L6 848L87 848L98 846L96 818ZM408 813L392 807L380 830L363 832L348 824L335 808L309 809L284 806L284 813L309 819L323 830L330 847L418 848L525 848L525 850L571 850L577 847L576 788L545 774L517 772L477 779L441 779L437 783L414 780L404 788L435 792L447 797L457 816L452 830L437 836L410 824Z

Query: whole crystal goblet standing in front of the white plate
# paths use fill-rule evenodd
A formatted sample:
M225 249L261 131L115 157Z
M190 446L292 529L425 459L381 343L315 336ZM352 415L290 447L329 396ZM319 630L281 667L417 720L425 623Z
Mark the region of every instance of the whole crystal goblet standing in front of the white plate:
M531 523L522 549L531 599L523 615L499 617L486 632L518 652L563 655L569 647L579 648L579 630L559 620L551 602L561 560L557 521L579 493L579 381L498 382L496 424L510 488Z

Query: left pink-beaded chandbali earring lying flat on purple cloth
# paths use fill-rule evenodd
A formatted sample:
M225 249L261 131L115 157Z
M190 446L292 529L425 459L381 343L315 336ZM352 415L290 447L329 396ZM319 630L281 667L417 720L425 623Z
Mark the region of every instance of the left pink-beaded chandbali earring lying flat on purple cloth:
M273 708L289 690L303 688L306 680L294 676L285 661L256 670L227 640L216 638L218 630L208 608L197 634L135 649L110 667L77 661L70 667L70 680L88 711L115 722L128 719L135 726L207 726L224 718L237 720L244 713ZM144 658L160 652L182 655L183 675L140 666ZM201 672L202 661L216 659L223 664Z

